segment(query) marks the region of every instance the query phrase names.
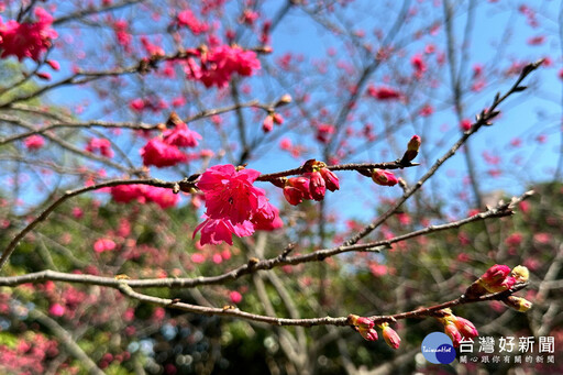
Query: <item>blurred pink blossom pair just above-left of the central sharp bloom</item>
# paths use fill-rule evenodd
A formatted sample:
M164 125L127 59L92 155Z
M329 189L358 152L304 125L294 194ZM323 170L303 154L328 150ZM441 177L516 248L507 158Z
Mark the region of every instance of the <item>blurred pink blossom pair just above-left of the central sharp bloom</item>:
M154 165L162 168L187 162L188 155L183 153L179 147L196 147L201 140L201 135L190 130L175 112L170 113L168 123L174 128L165 130L161 136L150 140L141 148L145 166Z

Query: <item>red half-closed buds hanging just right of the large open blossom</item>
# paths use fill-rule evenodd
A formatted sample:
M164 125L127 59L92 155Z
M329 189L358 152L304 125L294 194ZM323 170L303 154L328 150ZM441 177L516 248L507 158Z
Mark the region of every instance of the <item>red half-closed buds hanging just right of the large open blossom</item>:
M339 178L327 168L323 162L308 161L305 168L310 172L299 177L280 178L275 181L276 186L284 188L284 197L289 205L297 206L303 199L320 201L324 199L327 189L330 191L340 189Z

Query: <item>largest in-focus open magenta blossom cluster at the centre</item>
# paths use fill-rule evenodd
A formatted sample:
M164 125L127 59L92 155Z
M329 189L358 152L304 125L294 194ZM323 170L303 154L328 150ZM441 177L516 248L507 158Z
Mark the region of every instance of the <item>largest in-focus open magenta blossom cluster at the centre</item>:
M208 168L196 186L206 201L205 221L194 231L201 231L200 244L232 245L232 234L247 236L256 230L274 230L283 225L279 211L272 206L265 191L254 187L261 175L254 169L233 165Z

